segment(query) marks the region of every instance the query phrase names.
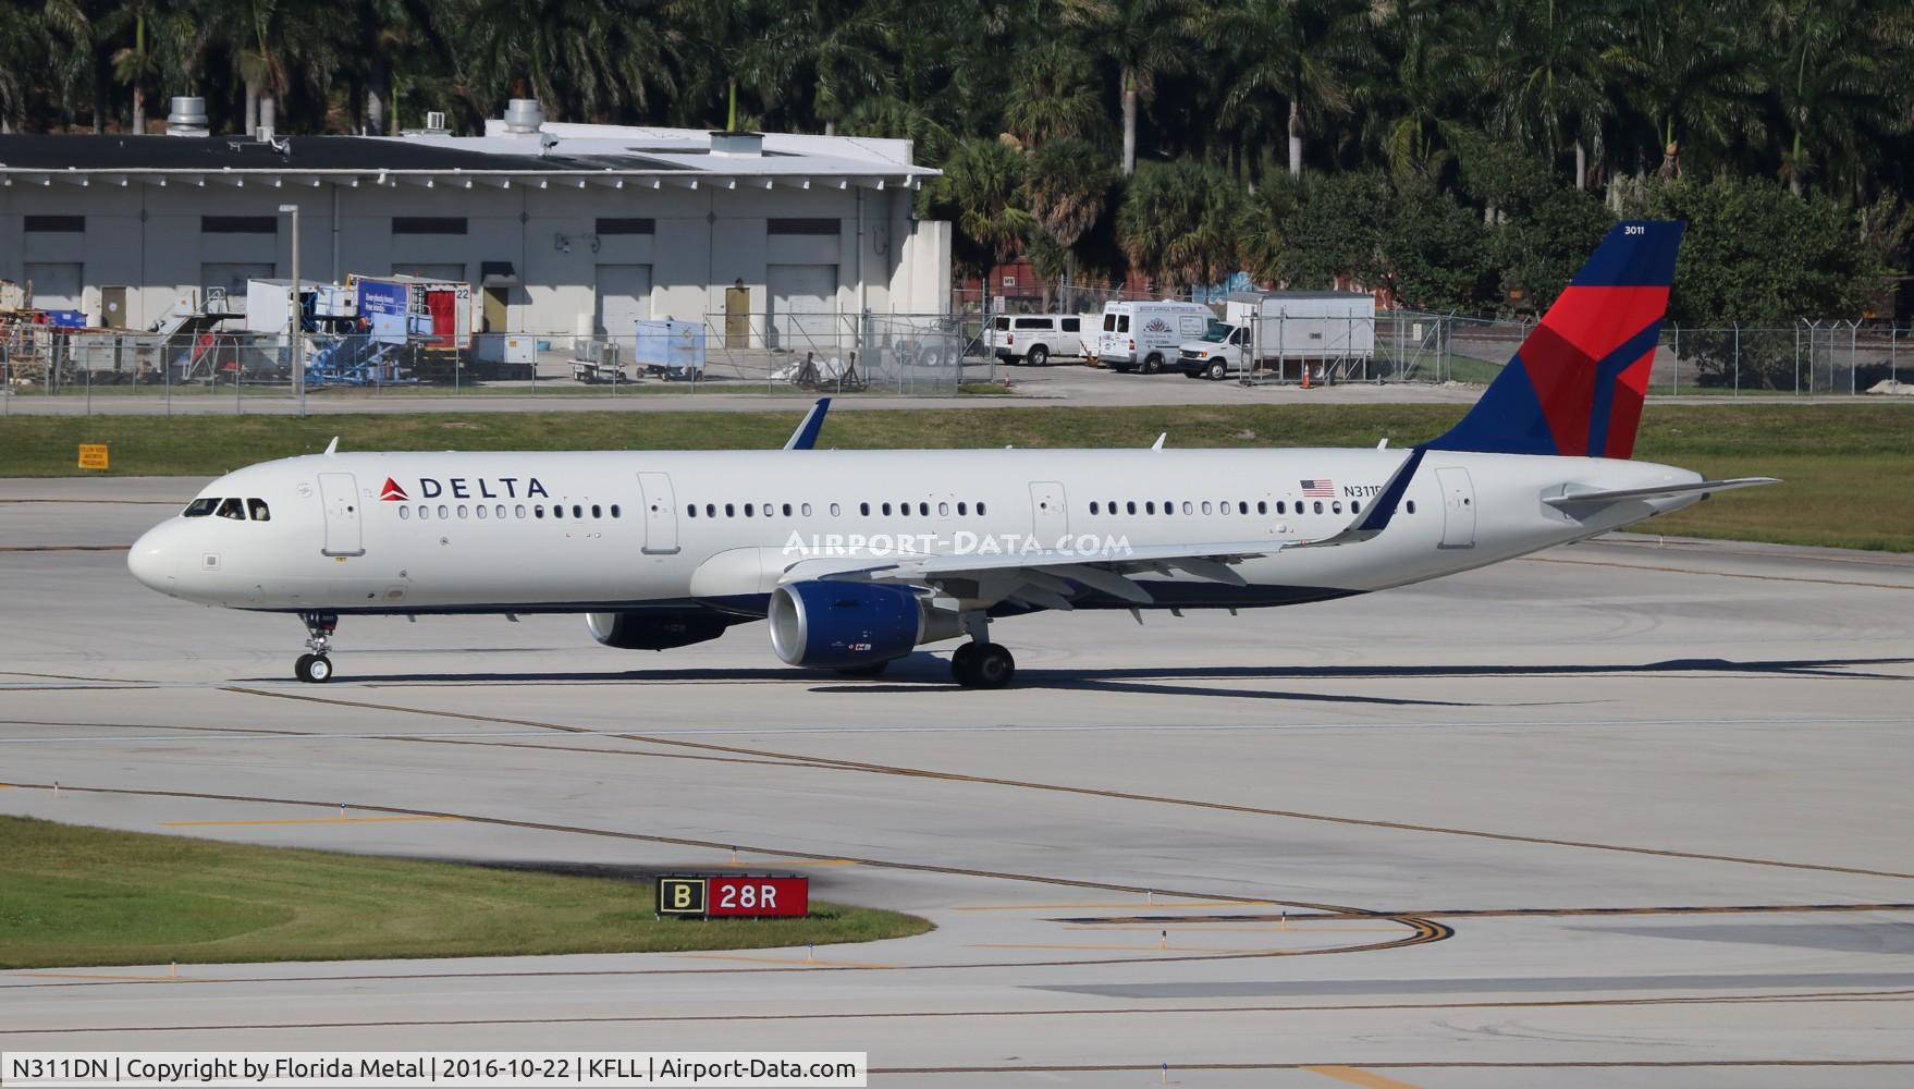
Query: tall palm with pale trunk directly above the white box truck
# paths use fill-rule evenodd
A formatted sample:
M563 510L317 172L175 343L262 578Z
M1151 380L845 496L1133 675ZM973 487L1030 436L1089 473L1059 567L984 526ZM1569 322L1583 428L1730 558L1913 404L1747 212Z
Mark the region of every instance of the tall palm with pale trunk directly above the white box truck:
M1303 170L1307 122L1349 109L1344 69L1369 52L1365 11L1361 0L1240 0L1204 21L1210 42L1233 57L1219 80L1223 121L1267 117L1271 98L1280 100L1290 174Z

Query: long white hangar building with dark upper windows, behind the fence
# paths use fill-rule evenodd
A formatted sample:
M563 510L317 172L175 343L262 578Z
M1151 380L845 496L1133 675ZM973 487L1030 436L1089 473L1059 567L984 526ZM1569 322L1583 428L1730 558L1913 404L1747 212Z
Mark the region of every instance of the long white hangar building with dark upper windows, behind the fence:
M534 100L484 136L222 136L172 107L167 136L0 136L0 279L147 329L291 276L293 203L304 279L471 283L473 331L949 306L949 224L913 211L938 172L907 140L563 124Z

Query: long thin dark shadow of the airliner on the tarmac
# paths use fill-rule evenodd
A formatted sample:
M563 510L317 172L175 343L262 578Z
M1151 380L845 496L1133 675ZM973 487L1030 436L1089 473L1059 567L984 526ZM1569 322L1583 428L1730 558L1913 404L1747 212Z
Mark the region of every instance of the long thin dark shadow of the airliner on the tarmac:
M1248 687L1204 685L1200 681L1351 681L1351 679L1449 679L1449 678L1571 678L1571 676L1770 676L1770 678L1832 678L1832 679L1906 679L1904 674L1866 672L1864 668L1908 666L1914 658L1669 658L1636 664L1460 664L1460 666L1139 666L1139 668L1022 668L1016 672L1020 689L1053 691L1112 691L1160 693L1183 697L1273 699L1303 702L1355 702L1382 706L1554 706L1583 700L1499 702L1499 700L1441 700L1384 695L1271 691ZM917 653L898 662L879 679L848 679L838 674L789 668L668 668L624 672L496 672L496 674L358 674L360 683L756 683L800 681L821 693L947 693L949 662L938 655Z

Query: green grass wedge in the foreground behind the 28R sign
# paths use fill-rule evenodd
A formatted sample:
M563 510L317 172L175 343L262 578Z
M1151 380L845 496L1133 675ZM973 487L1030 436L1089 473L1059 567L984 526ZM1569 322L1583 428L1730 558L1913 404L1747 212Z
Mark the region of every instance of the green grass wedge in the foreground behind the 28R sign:
M0 968L674 953L926 930L911 915L815 901L808 919L660 921L651 880L0 815Z

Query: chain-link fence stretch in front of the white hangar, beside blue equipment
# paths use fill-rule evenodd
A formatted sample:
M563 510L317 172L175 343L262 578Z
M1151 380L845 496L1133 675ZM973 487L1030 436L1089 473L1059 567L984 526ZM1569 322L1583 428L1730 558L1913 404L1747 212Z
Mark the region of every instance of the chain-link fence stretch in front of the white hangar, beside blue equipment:
M73 411L264 411L278 402L270 408L283 411L385 396L953 396L967 358L988 367L978 329L944 314L710 314L641 322L632 335L463 341L19 323L0 327L0 411L42 408L29 402Z

